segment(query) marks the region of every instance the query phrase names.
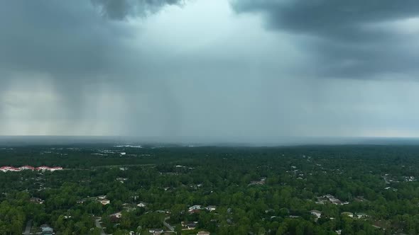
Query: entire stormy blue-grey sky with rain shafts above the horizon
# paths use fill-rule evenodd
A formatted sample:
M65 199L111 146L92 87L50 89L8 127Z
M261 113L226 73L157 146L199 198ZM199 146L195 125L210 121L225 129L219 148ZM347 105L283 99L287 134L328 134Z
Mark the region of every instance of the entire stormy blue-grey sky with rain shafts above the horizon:
M419 1L1 1L0 135L419 137Z

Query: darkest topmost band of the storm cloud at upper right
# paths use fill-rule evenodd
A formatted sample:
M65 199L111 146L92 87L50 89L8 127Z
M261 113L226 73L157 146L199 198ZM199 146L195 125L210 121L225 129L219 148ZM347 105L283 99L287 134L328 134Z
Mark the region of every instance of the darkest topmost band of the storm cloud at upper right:
M374 40L378 32L365 30L365 23L419 15L419 2L414 0L236 0L233 6L238 12L265 12L271 28L339 40Z

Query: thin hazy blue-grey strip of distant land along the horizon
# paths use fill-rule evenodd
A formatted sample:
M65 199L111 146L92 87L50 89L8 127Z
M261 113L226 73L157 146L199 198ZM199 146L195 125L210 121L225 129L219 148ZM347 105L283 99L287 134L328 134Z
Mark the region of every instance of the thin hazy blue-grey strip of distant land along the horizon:
M410 145L419 138L402 137L268 137L258 141L251 138L208 139L204 137L122 137L122 136L0 136L0 147L28 145L108 144L132 146L186 147L287 147L298 145Z

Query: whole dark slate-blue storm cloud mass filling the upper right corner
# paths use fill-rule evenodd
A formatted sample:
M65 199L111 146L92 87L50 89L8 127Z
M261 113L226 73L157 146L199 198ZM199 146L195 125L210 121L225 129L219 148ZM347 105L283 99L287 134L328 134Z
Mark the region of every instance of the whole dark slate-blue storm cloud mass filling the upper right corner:
M415 40L379 23L419 16L419 1L237 0L239 13L261 12L271 30L303 35L303 46L315 52L317 76L367 78L382 73L417 73Z

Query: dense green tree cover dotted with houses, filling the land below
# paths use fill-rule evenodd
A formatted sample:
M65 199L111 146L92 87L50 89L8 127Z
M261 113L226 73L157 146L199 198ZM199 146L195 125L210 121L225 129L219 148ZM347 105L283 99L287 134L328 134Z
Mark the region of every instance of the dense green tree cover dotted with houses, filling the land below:
M96 219L107 234L169 230L165 219L178 234L419 234L418 153L413 146L4 148L0 166L64 170L0 171L0 234L21 234L29 220L56 234L100 234Z

